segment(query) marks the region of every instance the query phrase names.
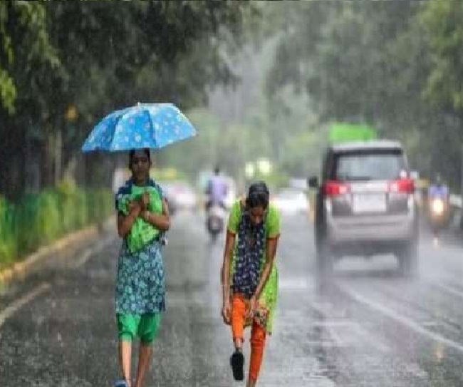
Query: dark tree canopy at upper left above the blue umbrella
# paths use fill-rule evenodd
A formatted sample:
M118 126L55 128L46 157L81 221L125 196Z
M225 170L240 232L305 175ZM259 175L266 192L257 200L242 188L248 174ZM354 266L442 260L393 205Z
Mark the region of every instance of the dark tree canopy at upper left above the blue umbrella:
M0 153L33 143L41 184L55 185L63 175L50 172L55 161L66 170L111 110L137 101L203 103L214 83L236 81L227 55L252 9L239 1L1 1L0 135L9 136ZM58 131L62 155L53 145ZM91 167L79 176L96 185L93 171L106 165L85 162ZM0 173L0 192L11 198L24 187L4 184L9 173Z

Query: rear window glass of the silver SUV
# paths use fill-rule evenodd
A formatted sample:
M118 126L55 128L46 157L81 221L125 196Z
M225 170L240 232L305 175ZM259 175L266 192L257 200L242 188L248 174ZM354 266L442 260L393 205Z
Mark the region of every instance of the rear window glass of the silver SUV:
M342 153L335 157L333 180L394 180L405 171L400 150Z

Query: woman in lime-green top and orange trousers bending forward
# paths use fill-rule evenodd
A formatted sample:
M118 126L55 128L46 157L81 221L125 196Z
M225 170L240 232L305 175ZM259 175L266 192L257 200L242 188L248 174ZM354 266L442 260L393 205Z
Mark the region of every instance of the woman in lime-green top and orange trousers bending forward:
M274 259L279 224L279 212L269 205L265 182L252 184L246 200L231 207L222 266L222 317L231 324L235 351L230 363L236 380L244 379L243 331L244 326L252 325L249 387L256 385L276 306L278 272Z

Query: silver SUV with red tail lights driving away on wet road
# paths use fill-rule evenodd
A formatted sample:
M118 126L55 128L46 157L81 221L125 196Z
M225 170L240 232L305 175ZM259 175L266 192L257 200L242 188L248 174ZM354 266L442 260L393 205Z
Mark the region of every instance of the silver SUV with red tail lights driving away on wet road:
M372 140L332 145L317 177L318 268L331 272L345 255L395 254L404 274L417 269L415 187L400 143Z

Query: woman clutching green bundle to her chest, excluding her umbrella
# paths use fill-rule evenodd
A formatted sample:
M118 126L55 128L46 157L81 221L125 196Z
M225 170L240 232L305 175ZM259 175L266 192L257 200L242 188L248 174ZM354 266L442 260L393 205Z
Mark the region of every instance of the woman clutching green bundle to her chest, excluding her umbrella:
M142 387L152 354L152 342L165 310L165 280L161 247L170 227L162 190L149 177L150 150L130 151L132 177L120 187L115 206L118 234L123 238L115 289L119 360L123 378L116 387L131 387L132 340L140 337L135 387Z

